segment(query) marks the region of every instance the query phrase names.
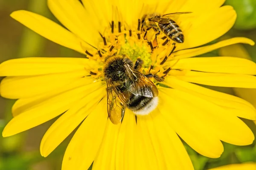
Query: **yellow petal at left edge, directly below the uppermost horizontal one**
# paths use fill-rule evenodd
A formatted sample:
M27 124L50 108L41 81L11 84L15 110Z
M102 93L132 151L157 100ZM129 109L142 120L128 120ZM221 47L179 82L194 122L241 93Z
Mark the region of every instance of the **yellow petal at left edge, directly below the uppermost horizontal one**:
M37 96L68 85L84 75L84 71L75 71L39 76L6 77L1 81L0 94L9 99Z

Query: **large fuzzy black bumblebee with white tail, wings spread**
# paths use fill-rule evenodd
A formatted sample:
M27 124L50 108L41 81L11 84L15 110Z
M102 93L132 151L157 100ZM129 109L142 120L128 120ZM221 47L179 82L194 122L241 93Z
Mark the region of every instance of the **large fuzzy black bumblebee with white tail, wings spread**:
M148 78L163 81L154 74L142 74L143 60L135 64L127 55L108 56L103 73L107 82L108 116L113 124L119 124L125 108L136 115L147 115L157 107L158 90Z

